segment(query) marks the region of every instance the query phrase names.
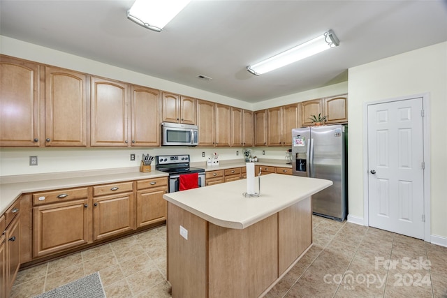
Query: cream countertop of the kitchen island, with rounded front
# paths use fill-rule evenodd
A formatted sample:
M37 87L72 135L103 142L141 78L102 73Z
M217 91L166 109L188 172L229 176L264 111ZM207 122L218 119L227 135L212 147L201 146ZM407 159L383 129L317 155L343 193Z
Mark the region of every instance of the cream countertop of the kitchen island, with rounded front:
M255 189L258 190L258 177ZM332 181L284 174L261 176L261 196L244 198L247 179L188 191L163 198L224 228L244 229L332 185Z

